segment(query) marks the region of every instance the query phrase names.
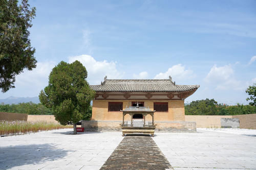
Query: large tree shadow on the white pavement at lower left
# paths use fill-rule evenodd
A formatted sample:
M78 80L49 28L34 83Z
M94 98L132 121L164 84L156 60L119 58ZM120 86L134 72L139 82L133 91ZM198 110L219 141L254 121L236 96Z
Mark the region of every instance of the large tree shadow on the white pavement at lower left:
M65 157L68 152L73 151L58 149L53 144L48 143L0 147L0 169L54 161ZM37 169L39 168L42 167L38 165Z

